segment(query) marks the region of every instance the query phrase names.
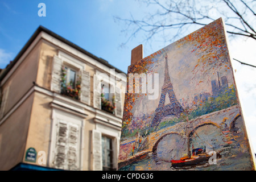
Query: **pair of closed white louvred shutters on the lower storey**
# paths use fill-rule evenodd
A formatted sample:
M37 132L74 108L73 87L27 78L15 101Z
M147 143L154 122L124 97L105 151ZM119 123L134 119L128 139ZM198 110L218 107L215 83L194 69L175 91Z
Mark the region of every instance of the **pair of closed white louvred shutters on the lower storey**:
M57 121L55 167L59 169L79 169L79 126Z

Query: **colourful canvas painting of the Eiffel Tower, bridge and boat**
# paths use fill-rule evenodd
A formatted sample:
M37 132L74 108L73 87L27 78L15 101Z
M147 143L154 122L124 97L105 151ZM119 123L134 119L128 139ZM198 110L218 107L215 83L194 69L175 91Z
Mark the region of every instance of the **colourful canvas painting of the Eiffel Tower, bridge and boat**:
M255 170L221 18L128 75L118 170Z

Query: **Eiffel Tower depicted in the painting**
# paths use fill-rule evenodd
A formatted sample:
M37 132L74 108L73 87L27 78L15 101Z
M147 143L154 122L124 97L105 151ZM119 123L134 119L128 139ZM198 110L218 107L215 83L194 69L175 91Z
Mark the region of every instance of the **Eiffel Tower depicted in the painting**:
M166 56L165 56L166 65L165 65L165 69L164 69L164 84L162 86L162 92L161 92L159 105L155 110L155 116L151 123L152 127L158 126L161 119L166 117L167 115L175 115L176 117L179 117L180 114L184 111L183 107L177 101L177 98L174 93L174 89L172 87L171 79L170 79L170 76L168 73L167 57L168 56L166 54ZM167 94L168 94L170 103L167 105L164 105L164 103L166 101Z

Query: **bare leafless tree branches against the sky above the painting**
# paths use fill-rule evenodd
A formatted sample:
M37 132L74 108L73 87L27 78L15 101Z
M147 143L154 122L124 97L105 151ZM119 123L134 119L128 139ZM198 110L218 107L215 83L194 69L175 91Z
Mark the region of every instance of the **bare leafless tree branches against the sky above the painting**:
M125 24L127 42L139 33L143 33L146 41L157 36L164 42L172 42L188 34L188 28L202 27L220 17L230 35L256 40L255 0L144 0L143 3L149 11L144 17L115 17Z

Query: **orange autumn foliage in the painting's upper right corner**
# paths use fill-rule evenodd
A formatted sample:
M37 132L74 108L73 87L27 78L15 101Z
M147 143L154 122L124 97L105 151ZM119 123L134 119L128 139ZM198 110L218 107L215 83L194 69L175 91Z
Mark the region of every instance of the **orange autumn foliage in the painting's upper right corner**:
M231 70L225 33L221 30L223 30L223 24L221 19L218 19L176 42L177 47L189 44L191 46L191 54L195 54L198 57L197 64L192 70L193 78L197 74L201 75L201 80L196 82L197 85L203 82L205 78L208 78L207 81L210 82L210 74L217 77L217 72Z

